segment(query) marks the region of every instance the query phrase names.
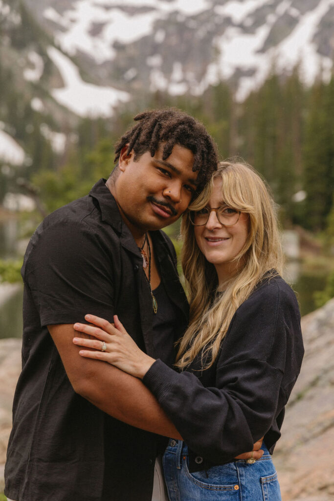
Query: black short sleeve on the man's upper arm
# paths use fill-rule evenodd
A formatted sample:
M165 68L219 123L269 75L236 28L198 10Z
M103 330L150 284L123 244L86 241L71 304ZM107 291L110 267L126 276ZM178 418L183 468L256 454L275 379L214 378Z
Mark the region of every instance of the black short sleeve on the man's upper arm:
M27 249L23 279L42 326L84 322L87 313L113 318L112 252L81 221L37 231Z

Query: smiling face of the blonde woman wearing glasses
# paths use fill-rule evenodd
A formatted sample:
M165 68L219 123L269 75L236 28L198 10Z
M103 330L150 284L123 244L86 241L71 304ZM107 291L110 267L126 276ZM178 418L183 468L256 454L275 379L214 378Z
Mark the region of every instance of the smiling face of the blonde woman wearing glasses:
M222 180L214 180L212 195L207 203L208 208L225 205L222 199ZM241 213L237 223L224 226L217 218L214 210L210 212L207 223L194 226L198 247L209 263L216 269L219 283L234 275L237 262L232 260L240 253L248 236L248 214ZM240 265L240 262L239 262Z

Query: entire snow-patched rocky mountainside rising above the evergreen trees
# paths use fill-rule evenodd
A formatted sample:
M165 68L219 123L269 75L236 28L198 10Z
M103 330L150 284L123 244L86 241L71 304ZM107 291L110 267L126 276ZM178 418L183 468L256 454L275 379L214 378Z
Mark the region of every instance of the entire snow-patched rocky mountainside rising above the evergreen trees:
M296 65L329 79L334 0L0 0L0 51L0 160L29 165L30 136L61 154L78 117L148 92L225 80L242 101Z

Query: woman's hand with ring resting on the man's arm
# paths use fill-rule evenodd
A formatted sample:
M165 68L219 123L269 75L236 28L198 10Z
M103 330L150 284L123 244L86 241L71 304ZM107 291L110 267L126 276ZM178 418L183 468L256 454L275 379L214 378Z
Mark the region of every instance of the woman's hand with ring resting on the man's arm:
M142 379L155 362L155 359L138 348L118 320L117 315L114 316L114 325L95 315L86 315L85 319L97 327L87 324L74 324L74 329L94 336L96 339L73 338L73 343L78 346L94 348L97 351L80 350L79 354L82 357L103 360L132 376ZM101 351L102 348L105 349Z

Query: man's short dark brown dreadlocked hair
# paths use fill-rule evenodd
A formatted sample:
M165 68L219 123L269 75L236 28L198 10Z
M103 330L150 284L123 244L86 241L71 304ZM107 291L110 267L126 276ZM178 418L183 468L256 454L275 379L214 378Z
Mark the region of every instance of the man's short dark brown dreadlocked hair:
M204 125L181 110L166 108L149 110L134 117L138 122L126 131L115 145L115 163L124 146L129 154L134 151L136 160L149 151L155 155L163 143L162 158L166 160L175 144L188 148L194 155L193 172L198 172L198 188L201 189L217 169L217 149Z

